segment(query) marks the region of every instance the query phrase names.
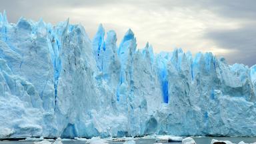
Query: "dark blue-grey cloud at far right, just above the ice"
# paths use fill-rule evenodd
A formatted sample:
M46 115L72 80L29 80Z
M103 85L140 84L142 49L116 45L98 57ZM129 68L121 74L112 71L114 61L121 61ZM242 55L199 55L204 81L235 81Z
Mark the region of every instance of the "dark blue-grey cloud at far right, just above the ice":
M256 27L245 25L234 30L219 30L207 33L223 49L234 50L224 55L229 63L256 63Z

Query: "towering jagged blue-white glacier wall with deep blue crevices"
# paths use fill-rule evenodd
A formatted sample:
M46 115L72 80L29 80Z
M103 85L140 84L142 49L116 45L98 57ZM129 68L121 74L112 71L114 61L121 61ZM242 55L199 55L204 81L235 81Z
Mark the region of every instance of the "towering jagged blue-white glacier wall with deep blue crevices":
M256 136L256 65L0 15L0 136Z

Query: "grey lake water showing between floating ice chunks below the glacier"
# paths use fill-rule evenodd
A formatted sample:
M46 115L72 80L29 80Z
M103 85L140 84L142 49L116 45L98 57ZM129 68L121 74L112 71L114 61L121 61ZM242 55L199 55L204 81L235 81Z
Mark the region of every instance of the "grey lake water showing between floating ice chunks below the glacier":
M193 137L197 144L211 143L211 139L218 139L222 141L231 141L233 143L239 143L244 141L245 143L256 142L256 137ZM137 139L137 144L153 144L156 143L155 139ZM85 141L63 141L63 144L85 144ZM123 141L110 142L110 144L123 144ZM0 144L33 144L33 141L0 141ZM163 144L181 144L181 143L163 143Z

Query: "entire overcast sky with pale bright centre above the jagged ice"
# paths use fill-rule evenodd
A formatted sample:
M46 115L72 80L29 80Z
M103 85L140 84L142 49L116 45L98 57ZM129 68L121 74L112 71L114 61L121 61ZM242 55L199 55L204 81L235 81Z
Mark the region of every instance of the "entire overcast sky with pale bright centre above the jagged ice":
M3 10L12 23L21 16L53 24L69 18L91 39L102 23L117 43L132 29L137 47L149 42L155 53L211 51L229 64L256 64L255 0L0 0Z

